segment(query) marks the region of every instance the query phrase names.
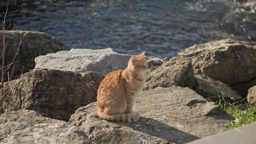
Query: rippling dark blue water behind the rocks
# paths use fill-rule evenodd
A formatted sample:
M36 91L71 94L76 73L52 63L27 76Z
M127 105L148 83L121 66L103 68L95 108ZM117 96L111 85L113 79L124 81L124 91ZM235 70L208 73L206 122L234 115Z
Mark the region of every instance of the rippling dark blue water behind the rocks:
M73 48L112 47L120 53L146 51L164 58L211 40L255 41L256 13L246 4L232 0L18 3L10 6L7 28L45 32ZM2 4L1 20L4 10Z

